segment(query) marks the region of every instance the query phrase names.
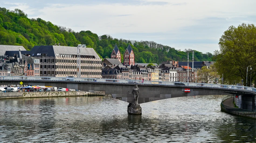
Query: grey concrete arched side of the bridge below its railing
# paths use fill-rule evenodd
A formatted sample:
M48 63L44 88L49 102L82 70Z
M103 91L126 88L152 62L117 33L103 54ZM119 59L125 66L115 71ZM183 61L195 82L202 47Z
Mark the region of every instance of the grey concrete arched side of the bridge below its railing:
M20 81L0 81L0 85L18 85ZM113 98L132 103L132 89L134 84L100 83L100 82L75 82L75 81L22 81L25 85L55 86L77 89L101 95L112 95ZM254 92L238 89L220 89L211 87L168 86L168 85L141 85L139 87L139 104L174 97L196 95L255 95ZM190 93L184 92L190 88Z

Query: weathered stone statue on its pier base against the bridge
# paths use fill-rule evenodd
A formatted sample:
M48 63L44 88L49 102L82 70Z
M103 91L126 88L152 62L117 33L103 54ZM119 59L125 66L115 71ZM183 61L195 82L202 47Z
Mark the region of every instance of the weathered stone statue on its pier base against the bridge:
M132 94L133 94L133 101L132 103L129 103L127 112L129 114L141 114L141 107L138 104L139 88L137 85L134 85Z

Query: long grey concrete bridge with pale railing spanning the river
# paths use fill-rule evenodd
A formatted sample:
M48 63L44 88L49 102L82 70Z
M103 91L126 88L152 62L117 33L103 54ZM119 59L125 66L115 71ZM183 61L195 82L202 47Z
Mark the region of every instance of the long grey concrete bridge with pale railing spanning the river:
M244 95L254 97L256 88L234 85L166 82L166 81L138 81L102 78L65 78L65 77L24 77L1 76L0 85L45 85L80 91L110 95L115 99L132 103L132 89L134 84L139 88L138 102L146 103L174 97L196 95ZM189 88L190 92L185 92ZM255 102L255 99L254 101Z

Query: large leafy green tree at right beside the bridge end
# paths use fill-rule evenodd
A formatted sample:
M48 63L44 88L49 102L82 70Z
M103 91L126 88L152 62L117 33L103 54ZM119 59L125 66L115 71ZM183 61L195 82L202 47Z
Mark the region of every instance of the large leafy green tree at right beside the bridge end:
M256 68L256 28L254 24L230 26L219 41L220 51L216 51L216 68L224 74L227 82L246 81L247 67ZM250 68L250 67L249 67ZM255 74L252 74L252 80Z

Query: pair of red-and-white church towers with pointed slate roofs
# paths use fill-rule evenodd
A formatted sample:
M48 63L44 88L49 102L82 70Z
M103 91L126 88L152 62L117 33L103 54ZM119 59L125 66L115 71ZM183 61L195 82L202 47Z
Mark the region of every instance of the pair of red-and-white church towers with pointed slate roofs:
M119 62L121 62L121 53L117 47L117 45L115 46L115 48L113 49L112 53L111 53L111 59L118 59ZM132 50L132 47L130 46L130 44L128 45L127 49L124 52L124 63L125 66L126 65L134 65L134 53Z

